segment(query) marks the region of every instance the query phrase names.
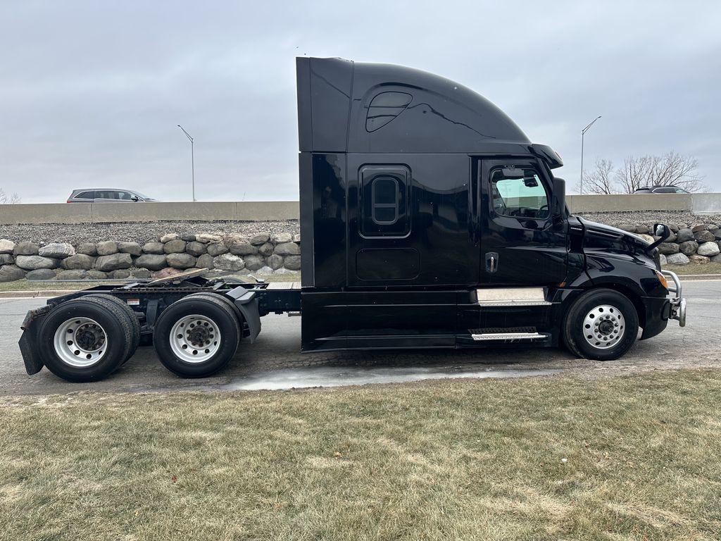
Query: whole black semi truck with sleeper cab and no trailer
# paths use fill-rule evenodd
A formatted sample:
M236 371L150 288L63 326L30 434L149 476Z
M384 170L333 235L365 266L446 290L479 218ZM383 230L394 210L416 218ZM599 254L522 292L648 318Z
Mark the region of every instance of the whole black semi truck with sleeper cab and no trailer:
M563 345L598 361L685 324L656 250L668 227L649 243L570 216L558 154L479 94L402 66L296 69L301 283L193 272L50 299L22 325L28 374L102 379L145 338L175 374L207 376L270 313L301 312L304 352Z

